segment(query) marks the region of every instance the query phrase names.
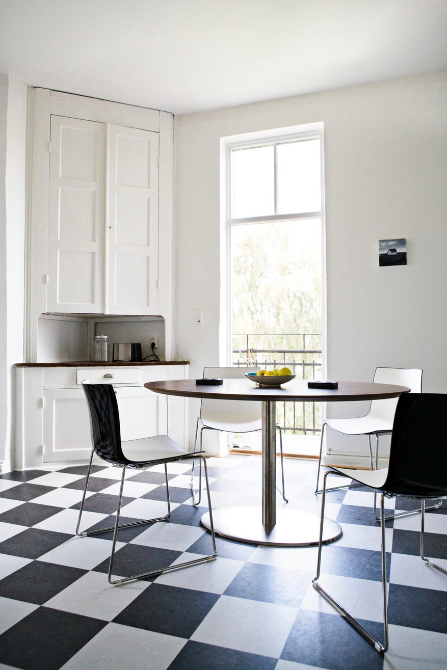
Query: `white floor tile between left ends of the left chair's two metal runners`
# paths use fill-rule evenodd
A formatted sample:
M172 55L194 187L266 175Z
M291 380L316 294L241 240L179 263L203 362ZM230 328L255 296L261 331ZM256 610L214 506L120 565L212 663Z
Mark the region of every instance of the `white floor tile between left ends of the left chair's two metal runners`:
M111 540L99 537L72 537L56 549L44 553L39 560L91 570L110 557L111 545ZM117 550L123 545L123 542L117 542Z

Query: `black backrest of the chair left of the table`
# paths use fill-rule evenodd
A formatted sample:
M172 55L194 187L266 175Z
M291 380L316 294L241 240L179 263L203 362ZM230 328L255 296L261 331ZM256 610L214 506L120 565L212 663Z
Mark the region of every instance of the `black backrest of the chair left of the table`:
M126 465L129 460L121 449L119 409L115 389L111 384L90 384L82 382L88 411L94 452L107 461Z

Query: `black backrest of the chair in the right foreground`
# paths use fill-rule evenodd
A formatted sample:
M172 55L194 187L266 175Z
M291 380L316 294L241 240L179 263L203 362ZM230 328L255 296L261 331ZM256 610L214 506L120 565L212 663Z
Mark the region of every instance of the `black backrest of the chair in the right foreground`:
M418 498L447 494L446 393L399 397L383 490Z

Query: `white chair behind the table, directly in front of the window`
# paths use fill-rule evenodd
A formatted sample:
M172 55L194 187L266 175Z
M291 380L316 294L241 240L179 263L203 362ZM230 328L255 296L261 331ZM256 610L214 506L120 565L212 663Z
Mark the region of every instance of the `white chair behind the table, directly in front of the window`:
M204 367L204 377L219 377L220 379L237 379L244 377L246 373L255 373L261 368L257 366L244 367ZM249 383L249 382L247 382ZM199 436L199 424L202 423L200 429L200 448L197 449L197 441ZM202 399L200 405L200 415L196 423L196 439L194 440L194 454L202 451L202 432L204 430L218 430L227 433L251 433L252 431L261 430L261 403L257 401L241 401L241 400L214 400ZM282 446L282 431L280 425L277 423L279 429L279 451L281 456L281 494L285 502L289 502L285 497L284 491L284 467L283 467L283 446ZM200 468L199 475L199 494L196 500L196 494L193 485L194 464L192 466L191 488L194 498L194 505L200 503L200 481L202 468Z

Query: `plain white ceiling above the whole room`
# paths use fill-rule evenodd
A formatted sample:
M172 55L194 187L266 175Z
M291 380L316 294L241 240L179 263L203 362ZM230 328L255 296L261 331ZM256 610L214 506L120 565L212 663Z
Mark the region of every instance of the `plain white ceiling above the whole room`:
M0 72L186 114L447 68L447 0L0 0Z

